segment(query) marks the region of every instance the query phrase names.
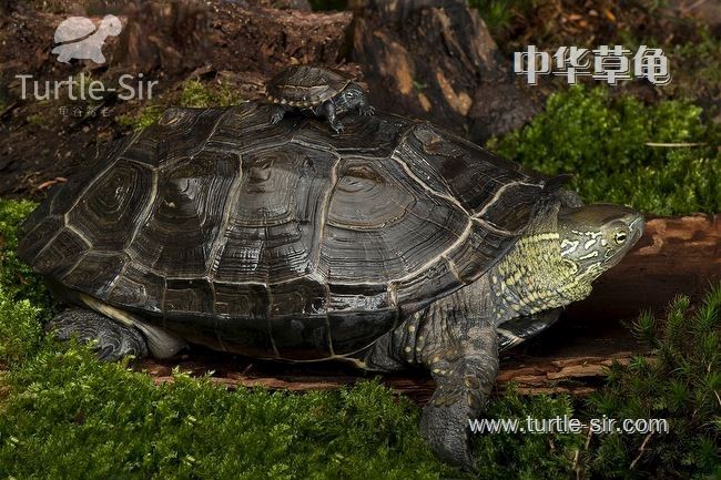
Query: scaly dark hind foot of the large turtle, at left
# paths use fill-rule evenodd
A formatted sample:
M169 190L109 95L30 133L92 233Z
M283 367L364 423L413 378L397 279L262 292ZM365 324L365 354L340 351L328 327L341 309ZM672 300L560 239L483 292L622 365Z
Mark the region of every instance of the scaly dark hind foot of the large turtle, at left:
M82 344L94 341L92 348L101 360L118 361L126 355L139 358L149 355L148 343L138 329L85 308L69 308L55 315L45 329L61 340L74 337Z

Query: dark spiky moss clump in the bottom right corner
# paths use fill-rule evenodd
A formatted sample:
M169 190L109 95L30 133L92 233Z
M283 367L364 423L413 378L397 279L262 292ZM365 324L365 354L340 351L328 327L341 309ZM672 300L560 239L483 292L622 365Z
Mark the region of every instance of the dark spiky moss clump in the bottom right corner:
M590 399L597 416L657 418L667 433L601 437L591 461L605 478L634 469L653 478L718 478L721 474L721 285L695 308L677 298L663 320L642 315L633 331L654 347L656 359L613 365L608 385ZM646 440L643 449L641 445Z

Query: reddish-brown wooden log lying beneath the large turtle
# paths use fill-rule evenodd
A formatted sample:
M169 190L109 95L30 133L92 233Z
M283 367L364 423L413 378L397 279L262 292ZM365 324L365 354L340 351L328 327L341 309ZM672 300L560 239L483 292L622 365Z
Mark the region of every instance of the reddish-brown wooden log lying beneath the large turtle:
M570 307L545 334L501 358L498 390L509 382L525 395L586 395L598 387L612 361L649 355L620 320L643 308L661 312L678 294L698 298L721 282L721 215L659 217L647 222L643 237L626 258L598 282L591 296ZM374 375L336 364L273 364L203 351L170 360L143 360L159 384L172 381L171 369L203 375L229 388L265 387L303 391L336 389ZM382 381L419 404L434 382L423 371L388 375Z

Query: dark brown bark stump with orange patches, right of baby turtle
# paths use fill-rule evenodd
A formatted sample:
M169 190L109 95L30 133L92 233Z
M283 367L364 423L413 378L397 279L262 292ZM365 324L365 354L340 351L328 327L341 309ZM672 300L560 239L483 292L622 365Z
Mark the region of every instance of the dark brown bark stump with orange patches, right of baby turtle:
M380 109L431 120L483 143L537 111L514 83L475 9L461 0L351 2L348 58Z

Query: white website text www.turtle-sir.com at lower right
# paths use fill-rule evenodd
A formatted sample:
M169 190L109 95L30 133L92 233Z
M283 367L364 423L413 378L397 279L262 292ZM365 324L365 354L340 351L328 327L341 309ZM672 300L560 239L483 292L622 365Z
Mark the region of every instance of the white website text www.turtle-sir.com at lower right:
M468 420L474 433L668 433L663 418L591 418L581 421L569 416L554 418L479 418Z

